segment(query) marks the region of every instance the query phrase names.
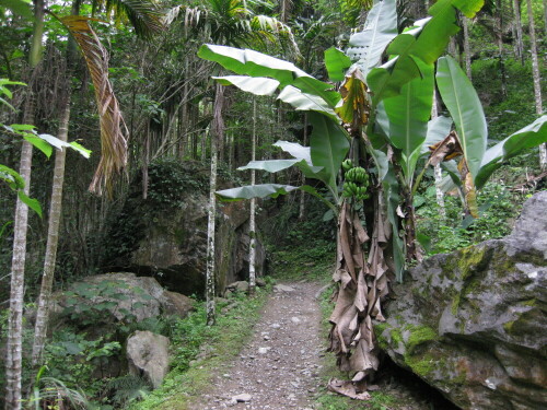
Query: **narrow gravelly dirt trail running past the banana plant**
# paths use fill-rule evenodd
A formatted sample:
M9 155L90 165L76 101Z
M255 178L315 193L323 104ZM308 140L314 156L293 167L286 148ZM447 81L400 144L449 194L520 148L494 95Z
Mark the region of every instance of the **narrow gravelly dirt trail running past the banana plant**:
M252 340L233 363L219 370L211 390L190 409L312 410L324 350L315 300L319 288L302 282L277 285Z

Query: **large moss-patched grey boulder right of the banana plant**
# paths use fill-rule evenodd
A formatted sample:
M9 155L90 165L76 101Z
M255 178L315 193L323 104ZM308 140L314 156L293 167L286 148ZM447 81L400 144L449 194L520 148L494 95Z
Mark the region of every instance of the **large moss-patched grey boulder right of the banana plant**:
M380 344L462 409L547 402L547 191L512 234L435 255L395 285Z

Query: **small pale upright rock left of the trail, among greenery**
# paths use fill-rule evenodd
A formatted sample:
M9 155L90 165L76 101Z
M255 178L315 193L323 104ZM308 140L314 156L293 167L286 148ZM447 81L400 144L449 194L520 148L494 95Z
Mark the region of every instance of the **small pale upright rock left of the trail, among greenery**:
M154 388L160 387L168 371L168 345L165 336L136 331L127 339L129 373L144 376Z

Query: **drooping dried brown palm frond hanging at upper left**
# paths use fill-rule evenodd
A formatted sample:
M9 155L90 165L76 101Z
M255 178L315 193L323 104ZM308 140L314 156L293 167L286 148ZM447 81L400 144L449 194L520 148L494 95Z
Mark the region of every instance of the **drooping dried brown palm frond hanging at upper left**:
M127 164L129 132L108 80L108 52L89 24L94 19L69 15L59 20L80 46L95 89L101 122L101 160L90 190L101 195L106 187L112 192L113 175Z

